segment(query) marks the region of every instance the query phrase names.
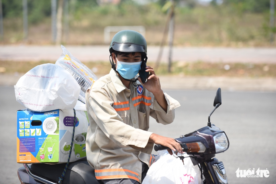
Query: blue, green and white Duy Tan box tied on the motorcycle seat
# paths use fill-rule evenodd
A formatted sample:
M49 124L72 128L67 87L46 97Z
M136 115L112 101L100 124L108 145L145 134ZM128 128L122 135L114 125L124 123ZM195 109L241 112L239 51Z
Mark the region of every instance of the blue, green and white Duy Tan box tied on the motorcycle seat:
M78 102L70 162L86 157L88 118ZM17 162L67 162L73 135L74 110L17 111Z

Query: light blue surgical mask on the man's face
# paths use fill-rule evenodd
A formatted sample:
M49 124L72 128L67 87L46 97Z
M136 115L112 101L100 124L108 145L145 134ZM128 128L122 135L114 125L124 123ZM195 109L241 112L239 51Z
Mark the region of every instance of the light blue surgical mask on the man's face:
M125 79L132 79L134 78L139 70L141 69L140 62L128 63L128 62L120 62L117 60L117 71L119 74Z

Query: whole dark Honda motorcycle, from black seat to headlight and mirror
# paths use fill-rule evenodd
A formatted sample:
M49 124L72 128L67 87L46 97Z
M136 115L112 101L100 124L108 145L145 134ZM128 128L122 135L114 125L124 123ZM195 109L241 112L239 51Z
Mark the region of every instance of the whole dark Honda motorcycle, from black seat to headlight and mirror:
M180 143L183 151L189 155L193 165L198 165L201 171L201 179L205 184L228 183L223 162L218 161L214 157L217 153L224 152L229 148L229 140L224 131L210 122L211 115L221 103L221 89L219 88L214 99L214 109L208 116L207 126L175 139ZM162 145L155 145L154 149L158 151L168 148ZM185 159L183 156L173 155L176 158ZM66 163L23 164L18 169L17 174L22 184L56 184L59 182L59 176L65 166L67 166ZM94 169L89 166L86 159L70 162L66 168L66 175L62 183L102 184L100 180L95 178Z

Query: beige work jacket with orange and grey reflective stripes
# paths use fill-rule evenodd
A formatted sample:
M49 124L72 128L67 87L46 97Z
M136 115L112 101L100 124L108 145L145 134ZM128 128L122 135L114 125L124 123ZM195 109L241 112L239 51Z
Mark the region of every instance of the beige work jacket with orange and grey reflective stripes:
M129 88L112 69L86 91L86 155L99 180L130 178L141 183L141 161L148 166L153 163L149 116L169 124L174 120L174 109L180 106L164 93L166 113L139 81L131 82Z

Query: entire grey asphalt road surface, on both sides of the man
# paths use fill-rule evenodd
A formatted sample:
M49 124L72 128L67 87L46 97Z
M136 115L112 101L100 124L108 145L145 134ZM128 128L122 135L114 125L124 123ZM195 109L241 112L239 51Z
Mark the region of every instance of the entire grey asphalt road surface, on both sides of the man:
M166 89L181 103L174 123L163 126L151 123L150 131L177 138L207 125L213 110L216 90ZM16 163L16 110L24 108L15 100L12 86L0 86L1 142L0 183L18 184ZM211 122L225 130L230 148L217 154L224 162L229 183L275 183L276 180L276 92L231 92L222 90L222 105ZM237 178L236 170L269 170L265 178Z

